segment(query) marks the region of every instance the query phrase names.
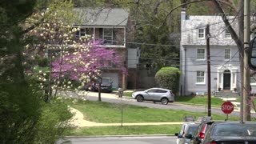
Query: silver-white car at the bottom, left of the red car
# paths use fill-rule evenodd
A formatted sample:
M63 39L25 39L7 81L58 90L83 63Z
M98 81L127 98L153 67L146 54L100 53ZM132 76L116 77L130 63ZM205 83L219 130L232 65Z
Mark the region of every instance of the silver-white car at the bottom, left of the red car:
M198 126L199 124L194 122L184 123L180 132L175 134L177 136L177 144L190 144L190 140Z

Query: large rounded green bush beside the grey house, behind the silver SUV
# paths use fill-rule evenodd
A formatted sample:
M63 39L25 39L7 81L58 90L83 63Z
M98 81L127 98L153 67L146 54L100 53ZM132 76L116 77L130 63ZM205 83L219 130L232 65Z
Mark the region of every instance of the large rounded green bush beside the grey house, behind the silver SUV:
M172 90L174 94L178 94L180 75L181 72L176 67L162 67L155 74L154 79L159 87Z

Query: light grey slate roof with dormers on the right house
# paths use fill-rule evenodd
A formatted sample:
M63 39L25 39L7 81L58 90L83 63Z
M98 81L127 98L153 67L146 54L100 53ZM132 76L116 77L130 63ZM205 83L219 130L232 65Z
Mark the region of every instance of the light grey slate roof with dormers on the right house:
M238 30L238 20L234 16L227 16L227 20L234 30ZM226 38L226 25L220 15L187 16L186 20L182 20L181 45L206 46L206 39L198 38L198 29L205 29L207 24L210 26L211 46L236 46L232 38Z

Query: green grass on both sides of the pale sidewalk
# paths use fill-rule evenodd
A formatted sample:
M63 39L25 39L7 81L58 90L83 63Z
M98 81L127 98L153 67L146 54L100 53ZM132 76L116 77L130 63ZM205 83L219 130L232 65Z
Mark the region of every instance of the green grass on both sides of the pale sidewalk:
M123 110L123 122L182 122L186 115L193 115L196 118L206 116L206 113L195 113L185 110L162 110L140 106L128 106L111 104L106 102L78 101L70 105L80 110L87 120L102 123L118 123L120 126L94 126L74 129L66 135L123 135L123 134L174 134L181 125L165 126L121 126L121 106ZM214 120L224 120L226 115L212 114ZM238 117L230 116L230 120L239 120Z

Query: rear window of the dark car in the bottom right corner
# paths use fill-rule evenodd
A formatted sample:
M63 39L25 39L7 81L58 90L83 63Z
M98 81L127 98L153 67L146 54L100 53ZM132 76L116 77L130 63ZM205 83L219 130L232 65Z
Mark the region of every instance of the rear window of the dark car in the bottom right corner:
M256 125L254 124L220 124L214 127L214 136L250 136L256 137Z

